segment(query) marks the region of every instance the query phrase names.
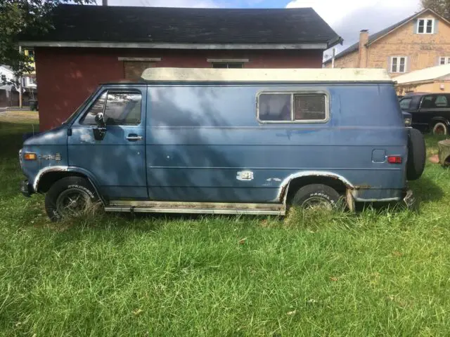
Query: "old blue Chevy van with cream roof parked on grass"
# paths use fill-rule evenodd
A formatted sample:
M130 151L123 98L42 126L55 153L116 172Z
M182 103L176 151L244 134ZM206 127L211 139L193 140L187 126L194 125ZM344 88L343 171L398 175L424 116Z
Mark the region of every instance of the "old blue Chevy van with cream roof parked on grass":
M21 190L52 220L105 211L284 215L413 199L423 136L374 69L150 68L27 138Z

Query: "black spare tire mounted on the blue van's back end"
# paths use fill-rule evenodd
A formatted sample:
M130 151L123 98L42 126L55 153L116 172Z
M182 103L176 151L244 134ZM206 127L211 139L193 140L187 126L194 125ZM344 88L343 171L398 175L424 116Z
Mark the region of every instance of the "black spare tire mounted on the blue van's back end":
M406 163L406 178L416 180L422 176L425 169L425 140L423 134L416 128L409 130L408 161Z

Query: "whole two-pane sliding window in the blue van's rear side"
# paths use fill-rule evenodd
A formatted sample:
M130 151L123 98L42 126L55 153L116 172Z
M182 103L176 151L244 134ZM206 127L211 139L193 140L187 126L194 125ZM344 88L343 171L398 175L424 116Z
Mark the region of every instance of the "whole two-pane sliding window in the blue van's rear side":
M323 93L260 93L257 118L269 122L326 121L326 95Z

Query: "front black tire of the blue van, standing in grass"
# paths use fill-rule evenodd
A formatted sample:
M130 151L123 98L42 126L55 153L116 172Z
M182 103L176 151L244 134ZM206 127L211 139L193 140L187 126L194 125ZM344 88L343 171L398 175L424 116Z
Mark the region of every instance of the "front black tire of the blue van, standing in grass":
M73 201L70 199L70 195L75 197L79 195L74 206L72 206ZM70 200L70 206L64 204L65 199L63 198L65 197ZM88 180L76 176L66 177L53 183L46 193L45 210L52 221L59 221L63 218L81 216L91 209L96 201L98 201L98 197ZM79 202L79 209L76 209L77 202ZM70 209L72 208L73 212L71 213Z

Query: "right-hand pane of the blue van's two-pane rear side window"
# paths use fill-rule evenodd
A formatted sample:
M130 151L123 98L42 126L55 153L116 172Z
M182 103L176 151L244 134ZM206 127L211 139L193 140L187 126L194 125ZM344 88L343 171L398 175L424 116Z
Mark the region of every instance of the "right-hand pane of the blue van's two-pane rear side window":
M326 119L325 95L294 95L295 121L323 121Z

